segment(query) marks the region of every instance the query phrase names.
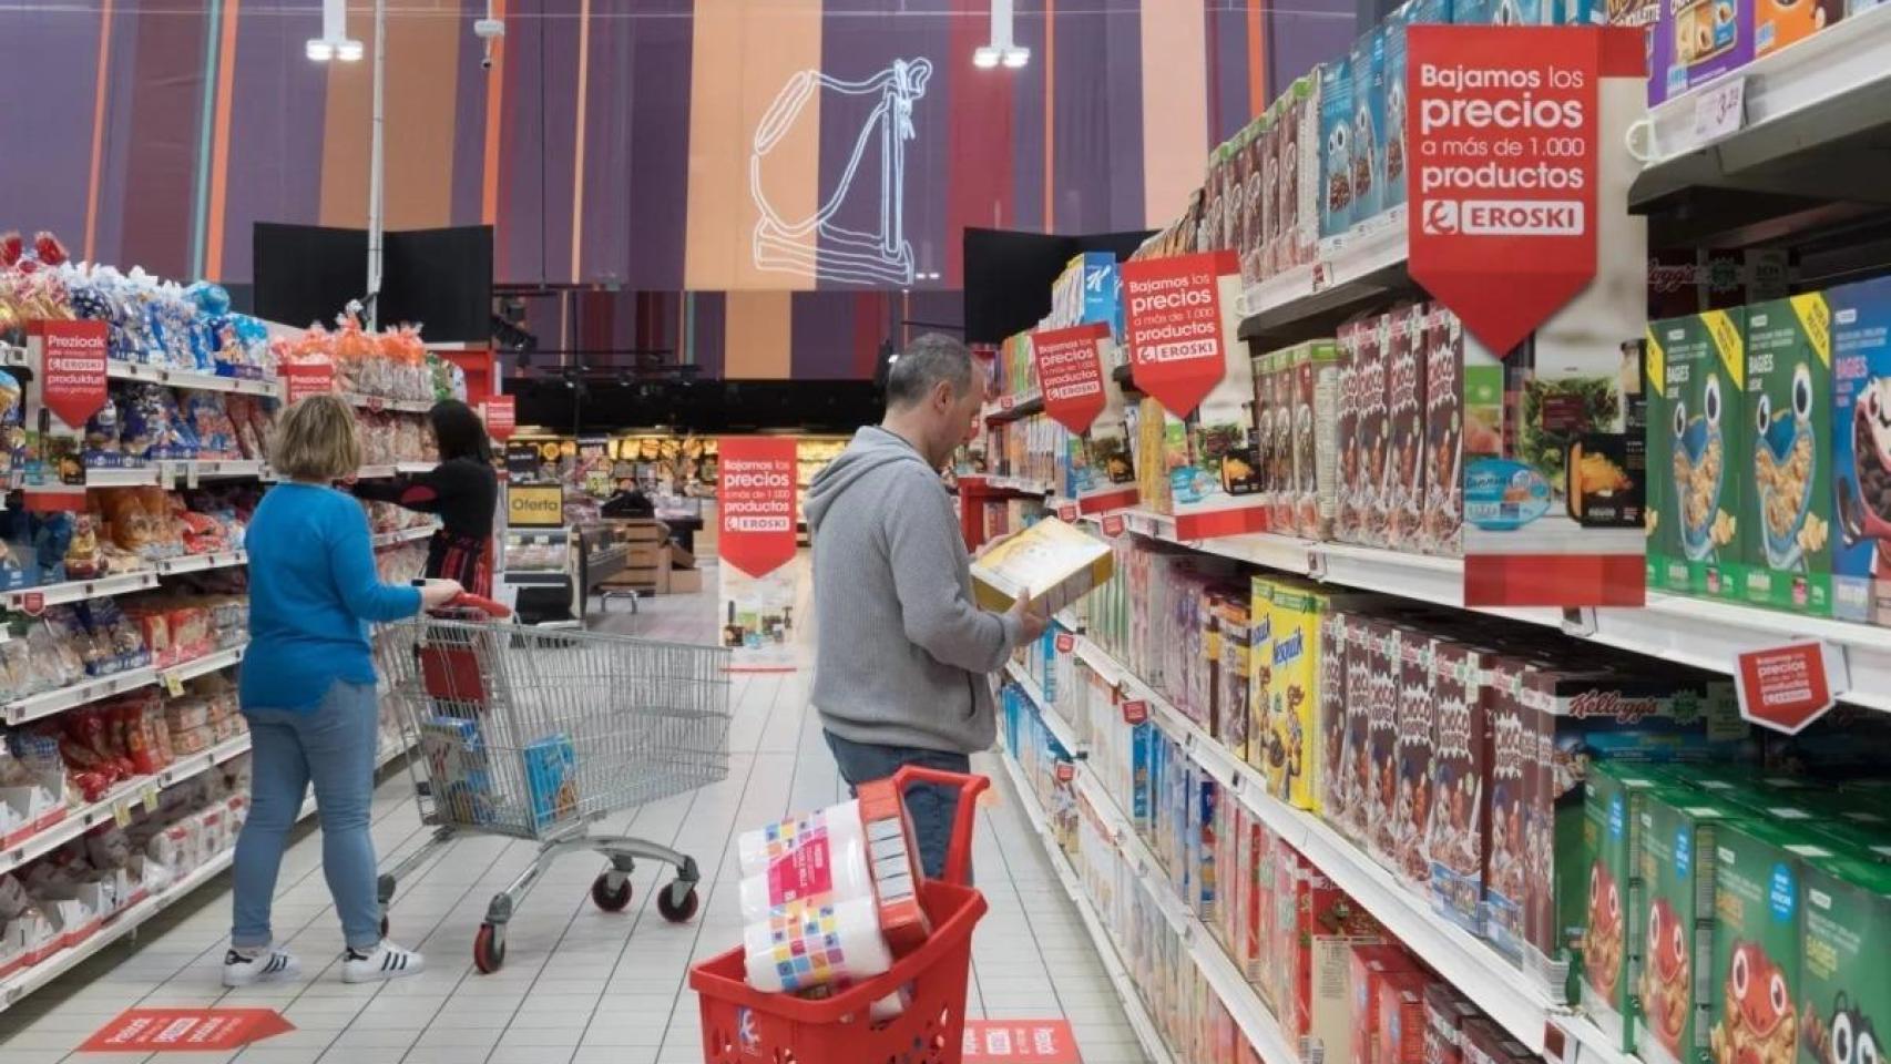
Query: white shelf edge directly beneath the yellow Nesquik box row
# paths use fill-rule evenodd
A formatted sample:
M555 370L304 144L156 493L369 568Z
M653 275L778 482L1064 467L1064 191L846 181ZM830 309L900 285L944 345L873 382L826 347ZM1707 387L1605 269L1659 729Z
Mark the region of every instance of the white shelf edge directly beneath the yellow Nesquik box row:
M1551 1053L1562 1064L1634 1064L1588 1019L1553 1004L1534 990L1518 970L1484 941L1441 920L1426 898L1411 892L1379 862L1341 837L1324 820L1267 794L1267 781L1214 741L1167 697L1110 658L1089 639L1078 639L1078 656L1131 697L1150 707L1150 720L1176 741L1240 805L1293 845L1327 879L1418 954L1443 979L1464 992L1492 1021L1534 1053L1545 1053L1551 1032L1562 1032L1566 1049Z

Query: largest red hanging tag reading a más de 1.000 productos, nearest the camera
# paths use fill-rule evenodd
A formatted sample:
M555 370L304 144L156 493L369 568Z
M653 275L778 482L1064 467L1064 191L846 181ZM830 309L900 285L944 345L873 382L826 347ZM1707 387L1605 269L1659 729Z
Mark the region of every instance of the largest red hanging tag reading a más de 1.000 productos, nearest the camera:
M1596 274L1596 89L1641 76L1641 32L1414 25L1405 40L1411 276L1509 352Z

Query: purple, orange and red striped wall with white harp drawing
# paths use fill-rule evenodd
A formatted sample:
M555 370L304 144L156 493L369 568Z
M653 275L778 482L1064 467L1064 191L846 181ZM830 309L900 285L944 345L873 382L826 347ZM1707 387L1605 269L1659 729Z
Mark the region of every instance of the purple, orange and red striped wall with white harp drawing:
M1352 36L1343 0L1019 0L1031 64L976 70L985 0L497 6L488 72L486 0L388 0L388 225L492 223L495 280L618 289L586 297L611 335L662 306L732 378L859 376L859 335L955 321L966 225L1165 223L1208 147ZM47 87L0 108L0 229L242 283L253 221L363 225L373 68L310 62L318 23L310 0L0 9L13 85ZM348 30L373 49L367 0Z

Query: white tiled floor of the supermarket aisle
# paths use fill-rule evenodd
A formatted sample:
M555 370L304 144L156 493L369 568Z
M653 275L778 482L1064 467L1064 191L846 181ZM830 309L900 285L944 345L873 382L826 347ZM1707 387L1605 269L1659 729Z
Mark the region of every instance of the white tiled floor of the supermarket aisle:
M715 586L711 571L709 586ZM715 635L715 592L616 605L607 631L681 643ZM802 614L809 616L809 614ZM596 618L594 618L596 620ZM806 633L804 633L806 635ZM668 883L637 869L626 913L590 901L592 856L552 866L512 918L505 968L478 975L473 934L486 900L531 858L524 843L463 839L405 883L391 937L427 954L427 971L393 983L340 983L340 932L321 881L321 839L306 832L284 860L276 932L306 968L280 987L225 992L229 877L142 928L136 945L104 951L66 979L0 1013L6 1064L62 1064L138 1055L74 1053L106 1021L138 1005L259 1005L297 1030L236 1053L155 1055L155 1064L700 1064L702 1030L688 966L741 937L734 843L741 828L843 798L845 788L807 707L807 673L737 675L732 684L730 777L711 788L609 818L692 852L703 866L703 913L671 926L651 903ZM987 756L993 798L980 811L978 886L991 913L974 937L972 1019L1068 1019L1085 1064L1146 1060L1089 937L1057 884L1010 782ZM395 771L376 792L382 866L425 837L412 784ZM836 1062L838 1064L838 1062Z

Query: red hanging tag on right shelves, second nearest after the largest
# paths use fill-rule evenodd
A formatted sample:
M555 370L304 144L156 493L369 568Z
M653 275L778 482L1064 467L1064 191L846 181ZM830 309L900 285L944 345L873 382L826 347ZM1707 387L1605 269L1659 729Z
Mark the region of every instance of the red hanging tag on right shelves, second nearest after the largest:
M1222 278L1240 272L1233 251L1123 263L1129 376L1176 418L1222 384L1227 346Z

